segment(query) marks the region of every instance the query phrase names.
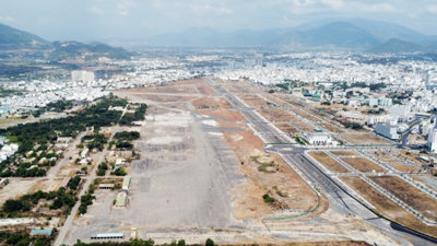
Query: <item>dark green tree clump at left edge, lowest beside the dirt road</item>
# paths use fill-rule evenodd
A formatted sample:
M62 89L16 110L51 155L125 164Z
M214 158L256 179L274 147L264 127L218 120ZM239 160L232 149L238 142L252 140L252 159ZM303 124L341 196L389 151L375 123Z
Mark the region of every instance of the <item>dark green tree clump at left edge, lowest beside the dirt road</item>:
M49 206L50 210L64 208L63 211L68 212L75 203L75 190L66 190L61 187L57 191L45 192L39 190L24 195L17 200L9 199L3 203L0 215L2 218L23 216L37 206L42 199L52 201Z

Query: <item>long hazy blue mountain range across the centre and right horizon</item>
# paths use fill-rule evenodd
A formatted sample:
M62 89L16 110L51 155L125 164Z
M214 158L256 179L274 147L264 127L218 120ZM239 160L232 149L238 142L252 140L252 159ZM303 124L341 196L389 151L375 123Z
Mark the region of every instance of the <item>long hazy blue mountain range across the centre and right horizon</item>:
M437 51L437 36L380 21L312 22L293 28L218 32L209 27L153 36L151 46L244 47L284 46L294 49L351 49L373 52Z

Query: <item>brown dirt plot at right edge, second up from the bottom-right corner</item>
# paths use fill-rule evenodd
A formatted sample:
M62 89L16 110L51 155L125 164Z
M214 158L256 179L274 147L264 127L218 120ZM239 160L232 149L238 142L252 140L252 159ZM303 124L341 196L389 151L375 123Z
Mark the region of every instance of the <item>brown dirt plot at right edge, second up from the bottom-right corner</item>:
M373 176L371 180L387 189L392 195L397 196L406 204L416 209L424 216L436 221L437 220L437 201L423 191L416 189L395 176Z

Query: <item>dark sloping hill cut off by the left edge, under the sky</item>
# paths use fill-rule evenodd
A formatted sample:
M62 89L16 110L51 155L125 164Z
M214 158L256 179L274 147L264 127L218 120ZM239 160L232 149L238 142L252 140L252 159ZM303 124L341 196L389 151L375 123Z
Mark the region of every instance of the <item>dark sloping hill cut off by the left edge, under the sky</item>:
M34 34L0 24L0 50L47 49L51 44Z

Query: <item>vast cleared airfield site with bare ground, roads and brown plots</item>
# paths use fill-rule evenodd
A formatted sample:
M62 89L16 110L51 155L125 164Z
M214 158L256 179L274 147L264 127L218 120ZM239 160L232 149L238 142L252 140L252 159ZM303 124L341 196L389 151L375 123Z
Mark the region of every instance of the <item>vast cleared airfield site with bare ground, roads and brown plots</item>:
M149 106L143 121L125 129L140 132L133 142L138 157L126 168L129 180L98 181L95 201L73 220L64 244L415 241L391 229L390 220L436 236L435 191L427 191L433 184L417 188L427 175L420 166L394 150L371 149L390 143L344 129L286 95L209 78L114 94ZM304 137L317 129L351 145L365 138L370 149L306 147Z

